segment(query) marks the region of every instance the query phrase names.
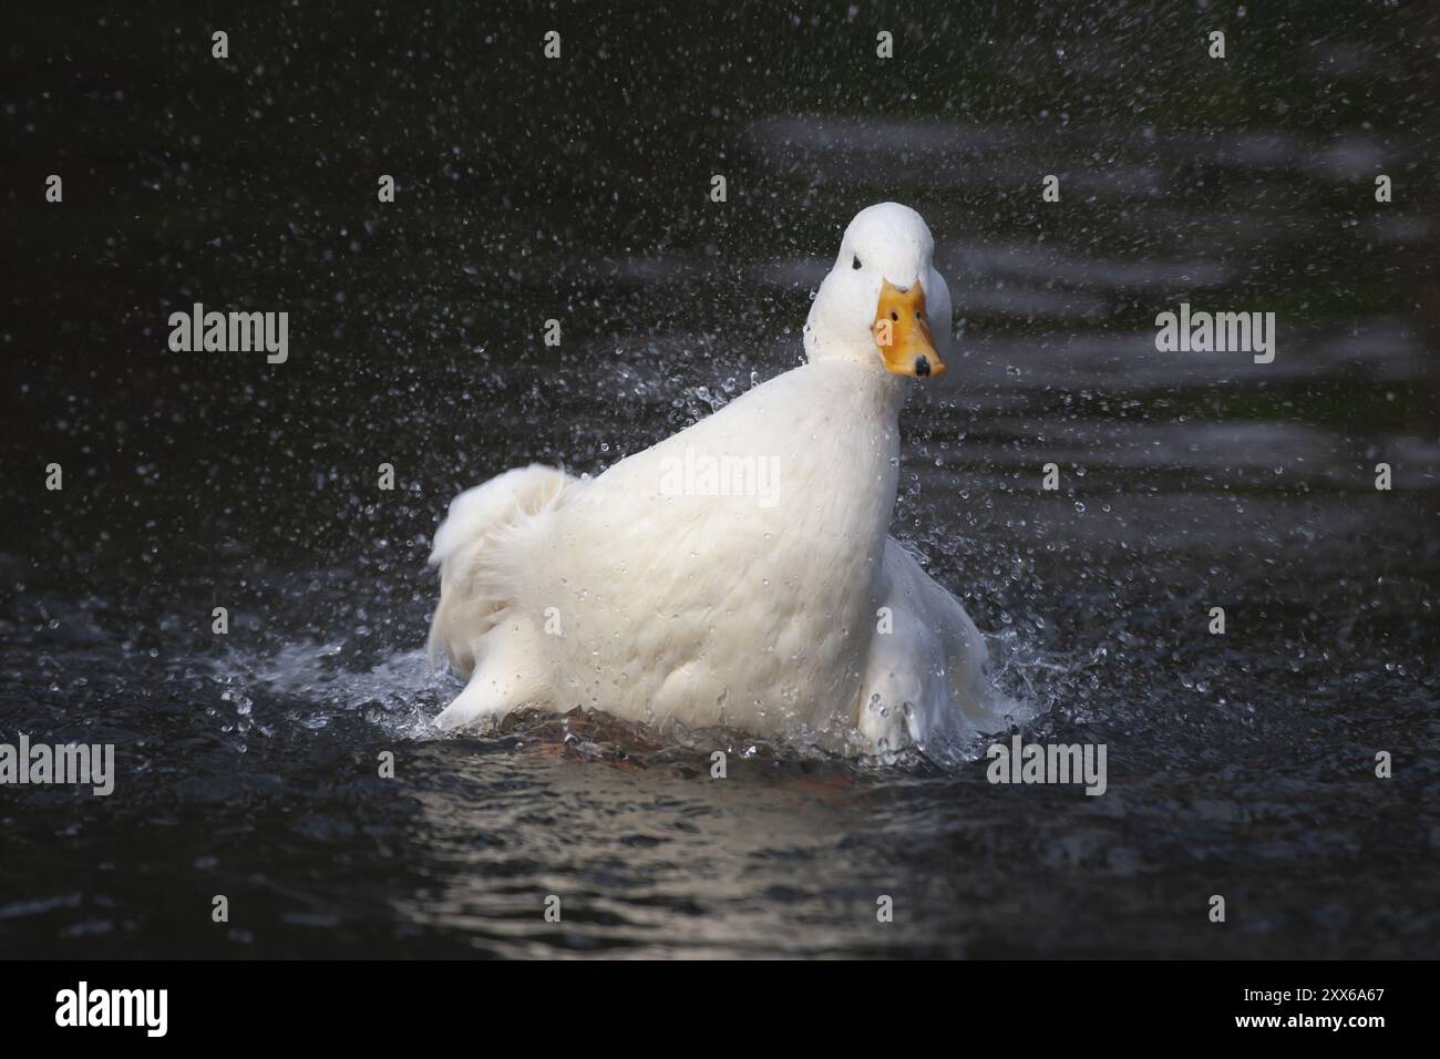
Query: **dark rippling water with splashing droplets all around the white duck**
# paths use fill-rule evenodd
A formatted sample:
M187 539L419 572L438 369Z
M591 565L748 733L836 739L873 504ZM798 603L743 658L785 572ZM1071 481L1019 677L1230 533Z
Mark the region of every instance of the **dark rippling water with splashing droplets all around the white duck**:
M0 94L0 742L114 743L118 778L0 788L0 952L1436 955L1433 10L1063 10L33 13ZM598 715L436 733L451 497L599 471L798 363L883 199L958 317L894 532L1025 738L1107 745L1107 792ZM289 362L168 352L193 301L288 311ZM1181 301L1274 311L1274 363L1156 353Z

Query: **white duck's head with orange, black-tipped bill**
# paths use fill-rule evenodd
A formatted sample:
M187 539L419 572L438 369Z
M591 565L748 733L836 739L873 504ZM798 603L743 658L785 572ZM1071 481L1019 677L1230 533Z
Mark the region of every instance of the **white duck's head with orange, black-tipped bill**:
M857 360L919 377L945 372L950 291L933 256L935 238L909 206L860 210L805 321L811 362Z

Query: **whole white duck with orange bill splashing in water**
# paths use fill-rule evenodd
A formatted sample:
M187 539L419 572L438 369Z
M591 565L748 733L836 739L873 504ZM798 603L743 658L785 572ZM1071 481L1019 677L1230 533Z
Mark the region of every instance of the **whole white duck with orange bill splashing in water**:
M531 465L435 535L441 728L523 705L932 755L1001 725L960 604L887 536L900 406L945 370L935 239L861 210L805 324L809 363L596 478Z

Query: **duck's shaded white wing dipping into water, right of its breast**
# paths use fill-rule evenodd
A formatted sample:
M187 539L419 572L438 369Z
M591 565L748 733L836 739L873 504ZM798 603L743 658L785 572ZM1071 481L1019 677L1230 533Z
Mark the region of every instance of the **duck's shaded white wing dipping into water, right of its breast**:
M945 748L1004 728L984 637L894 537L886 539L876 622L858 726L877 749L897 749L909 735L922 751L946 756Z

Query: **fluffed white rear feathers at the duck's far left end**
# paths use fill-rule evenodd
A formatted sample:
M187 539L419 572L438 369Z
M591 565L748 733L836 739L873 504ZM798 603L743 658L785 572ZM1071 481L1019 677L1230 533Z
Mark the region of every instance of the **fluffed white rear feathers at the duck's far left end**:
M497 663L505 658L507 667L526 661L507 656L526 654L528 644L498 643L539 633L533 618L517 611L524 578L517 545L527 539L534 519L553 509L573 483L562 470L531 464L455 497L431 550L431 565L441 568L441 602L428 644L432 663L445 657L456 673L469 677L488 654L495 654ZM503 683L508 687L514 682Z

